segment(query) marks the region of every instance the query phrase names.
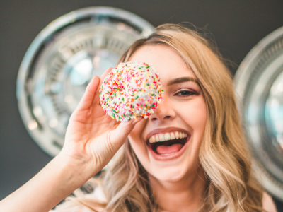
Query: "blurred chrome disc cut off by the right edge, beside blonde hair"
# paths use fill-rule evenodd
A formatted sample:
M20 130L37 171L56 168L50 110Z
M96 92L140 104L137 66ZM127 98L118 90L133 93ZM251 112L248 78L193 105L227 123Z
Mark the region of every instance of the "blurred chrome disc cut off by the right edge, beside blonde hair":
M234 84L257 175L283 200L283 28L248 53Z

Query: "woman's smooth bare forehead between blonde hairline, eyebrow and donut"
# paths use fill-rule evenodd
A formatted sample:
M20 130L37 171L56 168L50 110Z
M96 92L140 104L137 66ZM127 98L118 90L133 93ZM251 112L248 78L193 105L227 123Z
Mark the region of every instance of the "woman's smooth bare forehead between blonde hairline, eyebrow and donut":
M192 77L192 71L175 49L166 45L146 45L134 52L129 61L142 61L154 66L159 73L161 83L167 83L172 78Z

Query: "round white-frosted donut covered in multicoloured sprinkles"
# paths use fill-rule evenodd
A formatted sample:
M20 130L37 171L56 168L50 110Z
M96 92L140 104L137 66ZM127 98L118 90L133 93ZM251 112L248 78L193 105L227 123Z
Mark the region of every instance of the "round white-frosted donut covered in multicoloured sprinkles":
M138 61L120 63L100 87L100 105L105 114L120 122L137 117L147 119L163 99L161 88L154 67Z

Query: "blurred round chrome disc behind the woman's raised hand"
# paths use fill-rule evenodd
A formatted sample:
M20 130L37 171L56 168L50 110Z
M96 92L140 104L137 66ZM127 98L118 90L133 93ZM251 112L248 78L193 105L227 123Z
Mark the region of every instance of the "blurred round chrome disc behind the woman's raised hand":
M133 13L90 7L54 20L35 37L16 90L25 127L46 153L61 150L71 112L91 78L115 67L129 45L153 31Z

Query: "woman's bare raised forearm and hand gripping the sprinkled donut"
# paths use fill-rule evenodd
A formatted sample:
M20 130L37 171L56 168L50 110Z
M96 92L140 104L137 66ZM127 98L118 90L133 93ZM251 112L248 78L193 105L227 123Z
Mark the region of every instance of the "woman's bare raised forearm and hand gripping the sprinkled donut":
M141 118L119 123L104 114L99 105L99 88L110 70L89 83L71 115L59 155L33 179L0 201L0 211L50 211L101 170L122 146Z

